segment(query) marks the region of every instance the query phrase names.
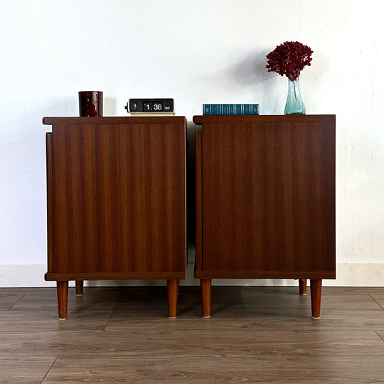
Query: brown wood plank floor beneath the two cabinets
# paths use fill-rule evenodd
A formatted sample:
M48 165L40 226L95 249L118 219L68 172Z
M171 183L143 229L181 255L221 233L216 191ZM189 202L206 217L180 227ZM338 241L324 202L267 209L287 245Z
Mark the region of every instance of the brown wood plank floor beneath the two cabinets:
M324 287L321 318L294 287L0 289L0 383L384 383L384 289Z

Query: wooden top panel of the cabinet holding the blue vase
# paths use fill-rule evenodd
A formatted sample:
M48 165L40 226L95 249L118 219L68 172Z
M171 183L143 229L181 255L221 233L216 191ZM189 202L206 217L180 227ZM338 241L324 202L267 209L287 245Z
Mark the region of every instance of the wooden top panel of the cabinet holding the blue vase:
M193 116L193 122L201 125L204 123L324 123L336 122L335 114L205 114Z

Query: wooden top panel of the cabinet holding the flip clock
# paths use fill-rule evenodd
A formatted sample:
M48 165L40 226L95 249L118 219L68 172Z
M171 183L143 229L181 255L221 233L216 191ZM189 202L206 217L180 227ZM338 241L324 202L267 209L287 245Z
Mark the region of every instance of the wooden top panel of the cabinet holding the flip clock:
M46 125L67 124L186 124L184 116L43 117Z

